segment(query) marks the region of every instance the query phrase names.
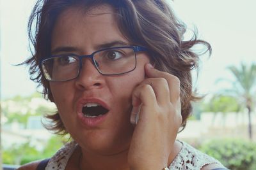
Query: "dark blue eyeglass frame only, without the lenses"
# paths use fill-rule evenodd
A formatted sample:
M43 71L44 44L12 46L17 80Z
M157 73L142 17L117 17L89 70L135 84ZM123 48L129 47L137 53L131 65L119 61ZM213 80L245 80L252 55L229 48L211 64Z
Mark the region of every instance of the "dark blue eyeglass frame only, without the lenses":
M98 53L98 52L102 52L102 51L105 51L105 50L114 50L114 49L118 49L118 48L132 48L132 50L134 50L134 57L135 57L135 66L134 66L134 68L131 69L130 71L126 71L124 73L116 73L116 74L102 73L99 70L99 68L97 67L96 61L94 60L93 56L95 55L95 53ZM65 55L72 55L74 57L77 57L77 59L79 59L79 70L77 72L77 76L76 77L68 79L68 80L63 80L63 81L74 80L74 79L76 79L79 76L79 74L81 72L81 69L82 69L82 66L83 66L82 60L84 58L90 58L92 60L92 62L93 62L93 65L97 69L97 71L99 71L99 73L102 74L102 75L114 76L114 75L120 75L120 74L129 73L131 71L134 71L134 69L136 69L136 66L137 66L136 52L147 52L147 51L148 51L148 49L145 46L114 46L114 47L110 47L110 48L102 48L100 50L97 50L97 51L91 53L90 55L76 55L74 53L65 54ZM56 57L60 57L60 56L63 56L63 55L51 55L49 57L43 57L42 59L40 59L39 63L40 63L40 67L41 67L42 72L44 73L43 63L44 63L45 60L56 58ZM51 81L51 82L63 82L63 81L52 81L52 80L49 80L49 79L47 79L47 76L45 76L45 73L44 73L44 77L45 77L46 80Z

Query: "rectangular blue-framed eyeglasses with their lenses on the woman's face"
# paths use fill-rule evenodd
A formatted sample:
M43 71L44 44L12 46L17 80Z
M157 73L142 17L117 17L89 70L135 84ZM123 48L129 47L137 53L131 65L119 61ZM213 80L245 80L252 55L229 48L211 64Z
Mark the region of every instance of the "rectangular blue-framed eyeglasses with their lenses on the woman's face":
M46 80L60 82L77 78L83 66L83 58L92 59L100 74L125 74L136 68L136 52L145 52L143 46L116 46L97 50L90 55L61 54L45 57L40 66Z

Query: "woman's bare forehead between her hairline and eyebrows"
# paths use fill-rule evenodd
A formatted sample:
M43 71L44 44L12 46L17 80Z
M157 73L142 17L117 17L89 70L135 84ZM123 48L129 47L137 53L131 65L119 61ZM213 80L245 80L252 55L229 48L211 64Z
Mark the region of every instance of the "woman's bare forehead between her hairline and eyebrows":
M119 30L116 17L113 8L107 4L89 9L72 6L60 14L54 25L52 48L83 48L84 45L90 48L109 41L127 41Z

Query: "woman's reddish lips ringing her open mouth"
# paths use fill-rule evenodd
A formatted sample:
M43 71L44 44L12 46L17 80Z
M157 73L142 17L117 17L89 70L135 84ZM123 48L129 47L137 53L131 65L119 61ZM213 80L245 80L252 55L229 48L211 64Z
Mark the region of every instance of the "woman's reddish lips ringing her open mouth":
M99 126L100 124L102 124L102 122L104 122L104 120L106 120L106 117L108 116L109 111L108 113L99 117L93 117L93 118L84 117L82 108L86 103L98 103L104 108L106 108L107 110L109 110L108 104L104 103L104 101L97 98L82 98L77 101L77 115L78 115L79 121L87 128Z

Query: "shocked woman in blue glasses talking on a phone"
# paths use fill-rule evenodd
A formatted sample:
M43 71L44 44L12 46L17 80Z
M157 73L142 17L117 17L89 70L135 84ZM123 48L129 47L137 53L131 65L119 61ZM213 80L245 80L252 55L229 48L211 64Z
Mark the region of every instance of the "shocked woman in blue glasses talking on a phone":
M224 168L176 141L198 99L191 48L211 51L183 41L185 31L165 1L38 1L26 64L58 108L49 129L73 141L20 169Z

